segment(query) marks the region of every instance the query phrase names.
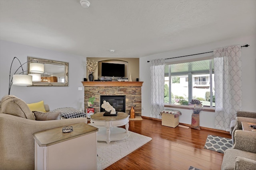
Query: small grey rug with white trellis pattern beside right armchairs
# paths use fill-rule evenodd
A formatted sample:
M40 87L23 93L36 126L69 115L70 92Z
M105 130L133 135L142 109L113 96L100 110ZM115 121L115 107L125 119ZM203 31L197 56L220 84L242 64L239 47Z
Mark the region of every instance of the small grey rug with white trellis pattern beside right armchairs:
M225 137L218 137L214 135L208 135L204 149L214 150L216 152L224 153L226 149L233 146L232 139Z

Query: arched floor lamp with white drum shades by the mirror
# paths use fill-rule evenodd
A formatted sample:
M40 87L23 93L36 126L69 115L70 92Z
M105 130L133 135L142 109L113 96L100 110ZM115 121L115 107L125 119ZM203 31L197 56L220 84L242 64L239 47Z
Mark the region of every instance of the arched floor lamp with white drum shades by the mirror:
M20 60L17 57L13 58L12 63L15 59L17 59L20 63ZM27 61L26 63L28 63L28 62L29 61ZM30 65L29 65L30 70L29 71L24 71L22 66L26 63L23 63L23 64L20 63L20 66L18 67L18 69L12 75L12 79L11 79L11 70L12 70L12 64L11 64L10 74L9 74L8 95L10 95L10 90L11 90L12 85L32 86L32 82L41 81L40 73L44 73L44 64L30 63ZM22 68L22 72L20 72L19 74L16 74L20 68ZM24 72L28 72L28 73L31 72L31 74L24 74Z

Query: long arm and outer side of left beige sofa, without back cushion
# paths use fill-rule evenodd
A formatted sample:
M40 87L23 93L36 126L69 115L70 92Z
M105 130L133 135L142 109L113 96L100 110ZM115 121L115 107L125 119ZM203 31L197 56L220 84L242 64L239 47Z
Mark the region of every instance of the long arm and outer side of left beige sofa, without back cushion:
M39 131L87 123L85 117L36 121L0 113L0 169L34 170L34 138ZM60 132L62 133L62 132Z

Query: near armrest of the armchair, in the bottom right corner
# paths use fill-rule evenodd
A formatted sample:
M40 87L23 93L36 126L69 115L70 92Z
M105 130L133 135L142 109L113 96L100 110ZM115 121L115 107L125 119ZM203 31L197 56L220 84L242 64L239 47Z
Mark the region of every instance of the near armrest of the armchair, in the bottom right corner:
M256 160L236 156L235 170L253 170L256 167Z

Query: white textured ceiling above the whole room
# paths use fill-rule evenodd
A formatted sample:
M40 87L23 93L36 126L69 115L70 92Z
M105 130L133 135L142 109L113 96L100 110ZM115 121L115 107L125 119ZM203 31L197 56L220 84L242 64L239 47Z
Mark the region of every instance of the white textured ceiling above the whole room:
M256 30L256 0L89 1L0 0L0 39L85 57L144 57Z

